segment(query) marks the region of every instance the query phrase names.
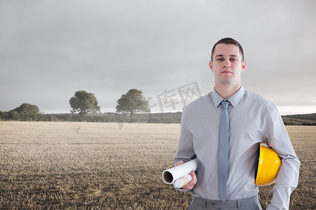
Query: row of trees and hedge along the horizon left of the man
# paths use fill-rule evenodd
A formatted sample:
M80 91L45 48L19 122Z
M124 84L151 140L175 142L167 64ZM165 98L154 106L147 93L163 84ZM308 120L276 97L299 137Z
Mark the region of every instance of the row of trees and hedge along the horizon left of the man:
M39 107L24 103L11 111L0 111L0 120L75 121L100 123L180 123L178 117L157 117L150 113L149 102L142 90L131 89L122 94L115 107L117 113L101 113L98 99L91 92L79 90L69 100L71 114L44 114Z

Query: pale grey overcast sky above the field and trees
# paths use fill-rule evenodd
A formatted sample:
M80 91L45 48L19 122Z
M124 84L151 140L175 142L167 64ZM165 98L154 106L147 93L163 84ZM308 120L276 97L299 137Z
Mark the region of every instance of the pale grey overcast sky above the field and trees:
M114 112L137 88L152 112L182 111L213 90L211 48L232 37L246 90L282 115L315 113L315 10L313 0L0 0L0 110L70 113L86 90Z

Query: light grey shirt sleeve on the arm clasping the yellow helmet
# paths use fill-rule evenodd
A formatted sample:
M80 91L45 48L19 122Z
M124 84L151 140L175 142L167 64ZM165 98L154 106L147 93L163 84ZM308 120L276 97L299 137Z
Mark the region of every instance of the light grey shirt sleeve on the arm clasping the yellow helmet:
M289 209L290 195L298 185L301 162L296 157L287 130L276 108L272 109L266 123L268 125L267 144L278 153L282 160L268 210Z

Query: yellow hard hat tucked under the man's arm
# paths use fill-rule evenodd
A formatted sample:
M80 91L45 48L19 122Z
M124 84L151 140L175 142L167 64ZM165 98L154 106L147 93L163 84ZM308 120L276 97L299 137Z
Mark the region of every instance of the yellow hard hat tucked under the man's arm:
M260 146L258 148L258 164L256 169L256 181L257 186L270 186L275 182L279 167L281 167L281 160L279 155L272 148L266 146Z

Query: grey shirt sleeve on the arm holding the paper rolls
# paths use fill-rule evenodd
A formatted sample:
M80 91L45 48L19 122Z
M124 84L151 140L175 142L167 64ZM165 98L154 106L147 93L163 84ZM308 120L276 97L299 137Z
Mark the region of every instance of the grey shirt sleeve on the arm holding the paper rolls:
M180 139L178 143L176 157L174 158L175 166L181 160L183 160L183 163L185 163L197 158L197 155L195 155L195 151L193 148L193 137L188 126L187 118L188 113L187 111L185 111L185 108L183 108L180 125ZM176 188L176 186L174 186L174 188ZM183 188L176 188L176 190L187 191L187 189Z

